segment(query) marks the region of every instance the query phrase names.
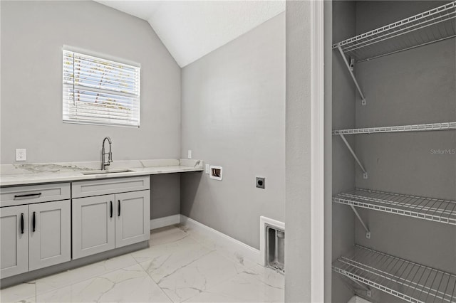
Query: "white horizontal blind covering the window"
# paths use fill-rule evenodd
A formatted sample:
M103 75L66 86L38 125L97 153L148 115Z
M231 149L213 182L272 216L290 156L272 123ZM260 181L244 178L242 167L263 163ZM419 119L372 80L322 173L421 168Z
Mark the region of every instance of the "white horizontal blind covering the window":
M140 68L63 50L63 122L140 126Z

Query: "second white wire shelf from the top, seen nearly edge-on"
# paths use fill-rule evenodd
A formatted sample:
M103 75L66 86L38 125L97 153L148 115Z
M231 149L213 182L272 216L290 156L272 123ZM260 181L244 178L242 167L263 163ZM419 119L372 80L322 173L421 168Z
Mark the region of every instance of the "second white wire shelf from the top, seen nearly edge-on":
M333 134L375 134L378 132L423 132L423 131L432 131L432 130L451 130L451 129L456 129L456 122L400 125L400 126L391 126L391 127L338 129L338 130L333 130Z

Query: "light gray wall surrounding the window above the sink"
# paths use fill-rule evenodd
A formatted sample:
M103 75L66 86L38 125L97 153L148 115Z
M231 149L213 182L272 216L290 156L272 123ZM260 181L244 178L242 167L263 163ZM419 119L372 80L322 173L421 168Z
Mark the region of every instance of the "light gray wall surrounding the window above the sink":
M62 46L141 63L141 127L62 123ZM180 156L180 68L146 21L94 1L1 1L1 164Z

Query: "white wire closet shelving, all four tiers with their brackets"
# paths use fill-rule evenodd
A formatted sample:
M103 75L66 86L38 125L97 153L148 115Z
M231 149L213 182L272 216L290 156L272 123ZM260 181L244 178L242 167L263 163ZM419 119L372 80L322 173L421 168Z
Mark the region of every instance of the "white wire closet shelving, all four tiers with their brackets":
M435 9L430 9L373 31L334 43L333 49L338 50L338 53L341 54L361 96L361 104L366 105L366 97L363 95L353 73L355 63L454 38L456 37L455 20L456 1L451 1ZM332 134L338 135L343 139L343 142L361 167L363 178L367 179L368 173L366 169L344 135L455 129L456 122L441 122L338 129L333 130ZM367 238L371 237L371 233L356 211L356 207L456 225L456 201L356 188L350 192L336 194L333 196L333 203L351 206L361 221L363 228L366 229ZM360 245L355 245L353 251L349 252L348 255L339 257L333 262L333 271L363 286L368 291L368 294L371 292L368 287L374 287L404 299L406 302L456 303L456 275L387 255L370 248L364 248Z

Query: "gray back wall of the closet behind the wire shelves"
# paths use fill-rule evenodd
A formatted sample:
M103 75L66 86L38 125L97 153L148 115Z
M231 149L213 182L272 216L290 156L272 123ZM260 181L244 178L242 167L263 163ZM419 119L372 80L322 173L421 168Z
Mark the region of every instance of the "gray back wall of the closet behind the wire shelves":
M361 33L444 4L439 1L375 1L356 6ZM456 121L455 38L360 63L357 68L368 105L356 105L356 125L421 124ZM356 186L432 198L456 200L454 131L357 136L356 151L369 179L356 174ZM356 223L356 243L440 270L456 273L456 228L375 211L360 212L371 240ZM398 299L377 294L380 302Z

